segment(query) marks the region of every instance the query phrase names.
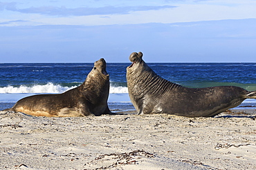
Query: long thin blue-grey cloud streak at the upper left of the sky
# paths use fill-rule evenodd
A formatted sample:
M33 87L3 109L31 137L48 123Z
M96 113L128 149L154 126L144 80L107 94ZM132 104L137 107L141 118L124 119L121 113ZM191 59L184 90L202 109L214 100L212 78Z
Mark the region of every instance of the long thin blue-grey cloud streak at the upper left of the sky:
M147 10L162 10L167 8L176 8L176 6L104 6L100 8L66 8L55 6L42 6L42 7L30 7L19 9L16 7L17 3L0 3L0 10L11 10L15 12L21 12L26 14L46 14L53 16L89 16L89 15L104 15L104 14L129 14L135 11L147 11Z

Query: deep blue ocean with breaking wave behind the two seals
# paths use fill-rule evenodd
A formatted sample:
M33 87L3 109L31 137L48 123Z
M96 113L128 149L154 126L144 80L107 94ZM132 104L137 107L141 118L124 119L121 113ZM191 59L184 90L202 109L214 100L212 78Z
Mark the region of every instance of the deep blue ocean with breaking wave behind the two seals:
M235 85L256 90L256 63L147 63L161 77L185 87ZM109 107L134 110L129 100L126 67L131 63L107 63L110 76ZM0 63L0 110L34 94L57 94L81 85L93 63ZM255 109L246 99L236 109Z

